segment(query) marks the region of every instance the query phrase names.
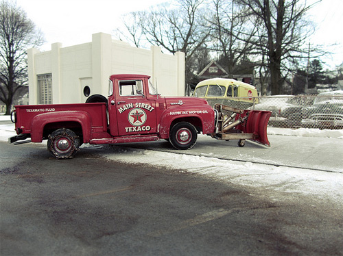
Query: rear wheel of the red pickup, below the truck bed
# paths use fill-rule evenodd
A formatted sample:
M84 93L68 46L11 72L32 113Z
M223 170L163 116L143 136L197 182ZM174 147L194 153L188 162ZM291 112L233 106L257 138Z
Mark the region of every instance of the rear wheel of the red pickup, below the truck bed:
M69 129L58 129L49 135L47 150L57 159L73 158L79 151L80 138Z

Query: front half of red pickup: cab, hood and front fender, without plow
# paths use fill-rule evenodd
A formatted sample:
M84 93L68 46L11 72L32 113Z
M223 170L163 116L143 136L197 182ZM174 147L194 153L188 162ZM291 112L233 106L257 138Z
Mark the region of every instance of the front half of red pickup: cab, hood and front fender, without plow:
M115 142L167 139L177 149L189 149L197 133L215 130L215 110L204 99L161 97L150 76L112 75L108 88L108 130ZM172 135L178 123L187 129L181 125Z

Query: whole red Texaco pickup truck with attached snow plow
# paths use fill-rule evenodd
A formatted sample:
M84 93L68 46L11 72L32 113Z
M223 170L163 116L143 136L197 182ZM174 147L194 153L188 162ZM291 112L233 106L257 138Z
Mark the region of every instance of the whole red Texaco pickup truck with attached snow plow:
M48 150L58 159L73 157L82 143L165 139L176 149L191 149L198 133L238 139L239 146L246 139L270 145L270 112L213 108L195 97L161 97L147 75L112 75L108 89L108 98L95 94L86 103L15 106L11 120L17 135L9 142L47 140Z

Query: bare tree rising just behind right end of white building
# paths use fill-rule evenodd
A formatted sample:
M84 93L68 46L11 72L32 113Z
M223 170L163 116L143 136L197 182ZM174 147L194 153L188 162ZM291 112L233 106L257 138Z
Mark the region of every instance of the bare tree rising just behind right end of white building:
M202 4L202 0L178 0L124 17L129 37L137 47L145 41L172 54L185 53L187 85L192 79L192 56L204 49L210 34L202 25Z

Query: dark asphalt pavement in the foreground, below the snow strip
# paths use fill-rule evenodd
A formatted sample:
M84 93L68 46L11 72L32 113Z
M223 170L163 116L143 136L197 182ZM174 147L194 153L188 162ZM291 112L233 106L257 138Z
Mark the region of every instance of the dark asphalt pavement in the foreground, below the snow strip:
M0 152L1 256L343 255L342 208L317 198L271 201L96 148L68 160L43 144Z

